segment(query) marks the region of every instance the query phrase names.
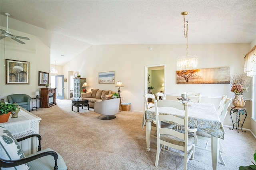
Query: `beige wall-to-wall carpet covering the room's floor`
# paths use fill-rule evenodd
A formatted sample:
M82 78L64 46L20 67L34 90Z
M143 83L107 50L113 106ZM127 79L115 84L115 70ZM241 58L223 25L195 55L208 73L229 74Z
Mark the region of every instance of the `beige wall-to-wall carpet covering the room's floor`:
M182 170L184 158L162 151L158 167L156 139L146 151L145 128L141 129L143 113L121 111L116 119L104 121L100 114L80 107L79 113L71 100L57 100L56 106L31 111L42 118L42 148L52 148L62 155L69 170ZM225 127L222 153L226 166L218 161L218 170L238 170L252 164L256 139L250 132ZM205 142L198 141L200 146ZM210 149L210 144L208 145ZM188 161L188 170L211 170L211 153L196 148L195 159Z

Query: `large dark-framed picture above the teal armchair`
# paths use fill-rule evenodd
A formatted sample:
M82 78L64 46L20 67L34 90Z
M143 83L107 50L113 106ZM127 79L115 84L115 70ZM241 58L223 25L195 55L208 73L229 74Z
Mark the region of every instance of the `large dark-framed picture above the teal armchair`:
M29 84L29 62L6 59L6 84Z

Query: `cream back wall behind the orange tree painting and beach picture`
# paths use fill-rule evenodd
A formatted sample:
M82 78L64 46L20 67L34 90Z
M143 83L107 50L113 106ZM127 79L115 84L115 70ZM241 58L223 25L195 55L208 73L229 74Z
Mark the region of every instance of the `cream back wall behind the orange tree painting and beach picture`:
M149 50L148 47L153 49ZM189 54L198 55L199 68L230 67L230 74L242 73L244 55L250 44L190 44ZM184 55L186 45L92 45L72 61L64 65L64 73L79 72L86 78L90 89L117 91L115 85L98 84L98 73L115 71L116 81L121 80L124 102L131 102L131 109L144 111L144 67L166 63L166 95L180 95L182 91L200 91L203 97L233 97L229 84L176 84L176 58ZM79 61L79 62L78 62ZM244 95L251 99L250 93Z

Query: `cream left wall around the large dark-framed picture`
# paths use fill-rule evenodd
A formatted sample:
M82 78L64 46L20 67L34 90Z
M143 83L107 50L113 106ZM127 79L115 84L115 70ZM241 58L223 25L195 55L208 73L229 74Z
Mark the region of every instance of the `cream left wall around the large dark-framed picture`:
M30 40L22 40L25 44L20 44L10 38L0 40L0 98L7 101L7 95L17 93L35 97L35 91L40 91L40 88L44 87L38 86L38 71L50 73L50 48L35 36L17 30L9 29L9 31L28 37ZM5 59L29 62L29 85L6 85Z

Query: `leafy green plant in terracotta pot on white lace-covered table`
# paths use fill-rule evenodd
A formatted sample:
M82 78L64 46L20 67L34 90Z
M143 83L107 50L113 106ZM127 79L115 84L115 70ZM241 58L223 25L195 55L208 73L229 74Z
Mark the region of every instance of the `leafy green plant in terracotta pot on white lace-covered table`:
M0 123L7 122L12 111L18 109L16 103L0 102Z

